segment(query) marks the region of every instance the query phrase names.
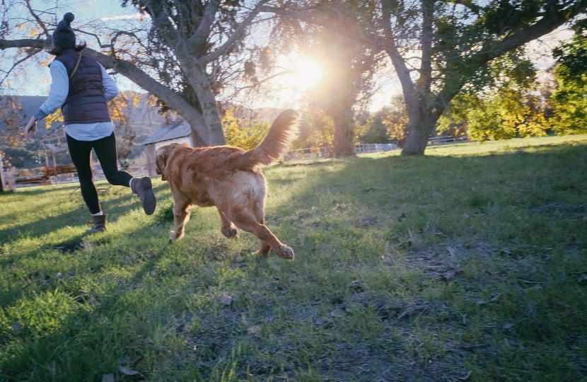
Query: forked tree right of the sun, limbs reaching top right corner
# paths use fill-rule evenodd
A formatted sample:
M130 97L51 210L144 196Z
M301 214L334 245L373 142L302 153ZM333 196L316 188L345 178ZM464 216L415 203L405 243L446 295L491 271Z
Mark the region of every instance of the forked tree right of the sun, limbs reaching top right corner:
M424 154L438 118L488 64L586 13L587 0L380 0L380 24L362 39L389 55L400 80L408 136Z

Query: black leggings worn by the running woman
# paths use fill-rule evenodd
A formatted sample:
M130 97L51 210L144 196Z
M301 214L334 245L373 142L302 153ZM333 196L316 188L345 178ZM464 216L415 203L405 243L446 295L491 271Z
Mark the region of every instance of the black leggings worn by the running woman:
M98 156L106 180L111 185L122 185L130 187L129 182L132 175L126 171L118 170L118 158L116 154L116 137L114 132L109 137L96 139L95 141L78 141L67 135L67 146L71 160L76 165L81 185L81 196L88 205L91 214L100 212L100 202L98 201L98 192L95 190L92 182L92 169L90 167L90 156L92 148Z

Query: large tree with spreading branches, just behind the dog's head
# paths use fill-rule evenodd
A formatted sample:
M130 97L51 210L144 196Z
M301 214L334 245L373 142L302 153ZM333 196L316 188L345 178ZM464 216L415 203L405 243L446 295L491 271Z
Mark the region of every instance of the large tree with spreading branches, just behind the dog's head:
M225 139L216 107L216 80L269 1L122 0L122 6L133 6L144 16L144 23L125 30L94 24L77 32L97 42L97 49L86 48L84 54L178 112L190 123L199 144L218 145ZM5 9L22 6L29 13L23 21L4 12L1 23L0 50L18 49L16 65L50 47L52 25L61 15L55 14L55 8L37 11L30 0L7 2ZM19 25L25 23L27 35L19 34Z

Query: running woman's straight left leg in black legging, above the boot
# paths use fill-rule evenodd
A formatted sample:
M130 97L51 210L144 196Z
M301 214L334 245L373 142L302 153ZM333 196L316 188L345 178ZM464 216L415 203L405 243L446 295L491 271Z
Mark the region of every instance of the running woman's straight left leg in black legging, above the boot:
M92 182L92 169L90 167L92 142L78 141L69 137L69 135L66 137L71 160L74 161L78 172L81 196L86 202L88 209L90 209L90 214L98 214L100 212L100 202L98 201L98 192L95 190L94 183Z

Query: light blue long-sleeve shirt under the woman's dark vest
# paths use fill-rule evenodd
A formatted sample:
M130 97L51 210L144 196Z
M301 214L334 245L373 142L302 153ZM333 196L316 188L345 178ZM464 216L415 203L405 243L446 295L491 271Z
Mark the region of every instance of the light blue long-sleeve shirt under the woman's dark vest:
M104 96L106 100L113 100L118 95L118 87L114 80L106 73L104 66L100 63L98 65L102 69ZM52 79L51 90L45 103L41 105L39 111L35 112L37 120L42 120L47 115L61 108L69 93L69 77L67 76L67 69L65 69L64 64L59 61L52 62L50 73ZM79 141L95 141L96 139L109 137L114 131L114 125L112 125L112 122L72 123L66 125L65 130L69 137Z

